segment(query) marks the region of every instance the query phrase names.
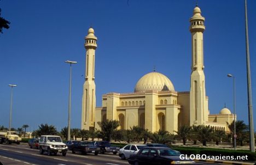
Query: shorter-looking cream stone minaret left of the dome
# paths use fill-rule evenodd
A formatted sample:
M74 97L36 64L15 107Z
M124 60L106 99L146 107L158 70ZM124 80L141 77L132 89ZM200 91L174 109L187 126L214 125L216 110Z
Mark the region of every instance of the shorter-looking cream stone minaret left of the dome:
M88 35L85 36L84 47L86 49L85 59L85 82L82 99L82 126L81 129L94 130L95 124L95 50L97 48L97 37L94 35L92 27L88 30Z

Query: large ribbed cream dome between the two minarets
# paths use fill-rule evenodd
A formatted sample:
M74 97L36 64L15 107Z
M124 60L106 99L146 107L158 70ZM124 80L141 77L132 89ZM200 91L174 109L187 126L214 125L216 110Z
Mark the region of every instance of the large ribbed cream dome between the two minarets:
M150 72L139 79L134 91L145 93L146 91L175 91L172 82L159 72Z

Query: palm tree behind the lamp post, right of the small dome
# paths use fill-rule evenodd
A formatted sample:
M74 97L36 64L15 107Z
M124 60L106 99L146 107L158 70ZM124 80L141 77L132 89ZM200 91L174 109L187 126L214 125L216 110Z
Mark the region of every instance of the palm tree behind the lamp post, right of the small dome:
M229 130L232 133L232 139L234 144L234 121L229 125ZM236 121L236 135L237 135L237 142L240 143L241 146L243 146L243 141L248 138L248 126L243 123L243 120L237 120Z

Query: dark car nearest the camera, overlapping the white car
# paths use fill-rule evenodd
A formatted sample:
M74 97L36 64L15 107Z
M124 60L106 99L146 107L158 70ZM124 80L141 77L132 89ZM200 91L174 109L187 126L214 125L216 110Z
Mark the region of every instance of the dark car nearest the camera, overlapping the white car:
M145 147L135 155L131 155L130 164L165 165L165 164L195 164L192 160L182 160L176 151L164 147Z

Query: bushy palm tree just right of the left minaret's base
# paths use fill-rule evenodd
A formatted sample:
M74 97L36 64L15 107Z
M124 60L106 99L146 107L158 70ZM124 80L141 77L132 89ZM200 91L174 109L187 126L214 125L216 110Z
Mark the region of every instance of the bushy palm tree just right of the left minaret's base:
M114 130L116 130L120 124L117 120L107 119L106 121L98 122L98 125L101 127L100 138L110 142L113 137Z

